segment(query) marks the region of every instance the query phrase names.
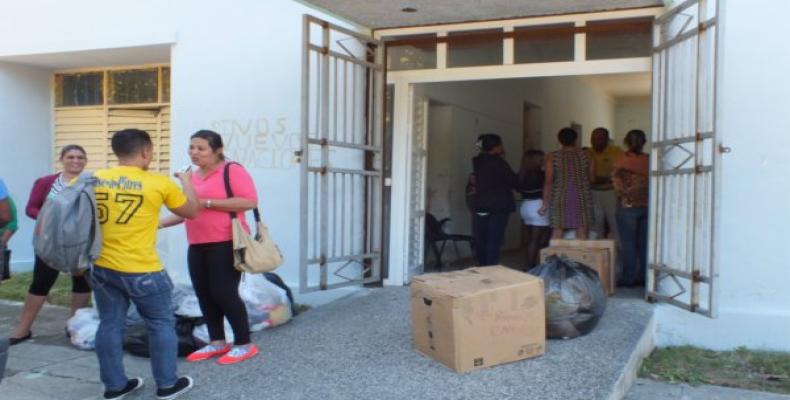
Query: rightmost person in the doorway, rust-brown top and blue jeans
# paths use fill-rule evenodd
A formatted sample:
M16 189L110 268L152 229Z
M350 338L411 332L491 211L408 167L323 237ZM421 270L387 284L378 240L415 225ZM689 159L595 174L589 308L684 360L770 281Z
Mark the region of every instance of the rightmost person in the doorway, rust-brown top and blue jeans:
M647 265L647 204L650 157L642 152L647 138L635 129L625 136L628 151L615 160L612 180L619 197L617 225L623 274L621 285L644 284Z

